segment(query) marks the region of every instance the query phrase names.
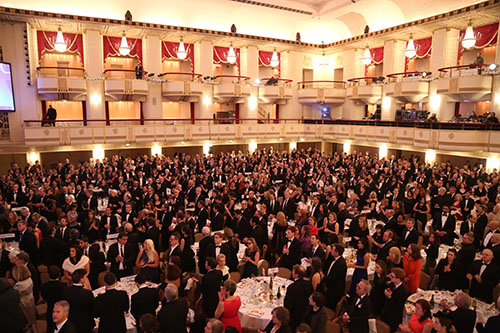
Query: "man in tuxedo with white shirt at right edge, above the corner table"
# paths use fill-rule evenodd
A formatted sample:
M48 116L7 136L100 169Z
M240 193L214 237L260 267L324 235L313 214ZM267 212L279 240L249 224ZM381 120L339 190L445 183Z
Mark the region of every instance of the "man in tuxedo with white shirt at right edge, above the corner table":
M499 268L492 263L492 260L493 251L484 249L481 260L476 260L467 274L467 279L471 281L469 295L486 303L491 302L493 288L500 277Z

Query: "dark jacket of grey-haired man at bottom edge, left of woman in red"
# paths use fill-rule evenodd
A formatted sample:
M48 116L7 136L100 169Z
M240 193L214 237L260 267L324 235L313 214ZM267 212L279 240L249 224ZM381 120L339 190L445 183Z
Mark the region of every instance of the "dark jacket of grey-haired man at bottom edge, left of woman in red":
M158 312L158 322L161 333L186 333L186 317L188 305L186 299L179 298L173 302L163 304Z

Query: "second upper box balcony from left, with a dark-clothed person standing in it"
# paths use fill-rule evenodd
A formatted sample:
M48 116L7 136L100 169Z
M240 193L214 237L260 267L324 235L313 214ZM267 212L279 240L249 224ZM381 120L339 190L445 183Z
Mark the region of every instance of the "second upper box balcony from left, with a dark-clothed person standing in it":
M132 78L129 74L136 75ZM106 69L104 75L104 94L107 100L145 101L148 94L148 82L142 77L145 71L133 69Z

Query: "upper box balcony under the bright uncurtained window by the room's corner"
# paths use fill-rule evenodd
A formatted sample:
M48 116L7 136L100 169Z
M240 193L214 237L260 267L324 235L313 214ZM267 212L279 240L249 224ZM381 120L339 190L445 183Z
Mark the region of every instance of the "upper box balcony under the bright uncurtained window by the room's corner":
M301 104L343 104L345 101L344 81L303 81L298 85Z

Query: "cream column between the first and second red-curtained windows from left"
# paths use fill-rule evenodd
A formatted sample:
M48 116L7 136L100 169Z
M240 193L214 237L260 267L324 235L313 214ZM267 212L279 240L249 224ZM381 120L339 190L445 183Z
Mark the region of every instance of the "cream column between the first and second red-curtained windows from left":
M104 81L92 80L103 77L104 60L102 36L98 30L87 29L83 34L85 46L85 70L87 72L87 119L105 119ZM91 121L89 126L103 126L104 122Z

